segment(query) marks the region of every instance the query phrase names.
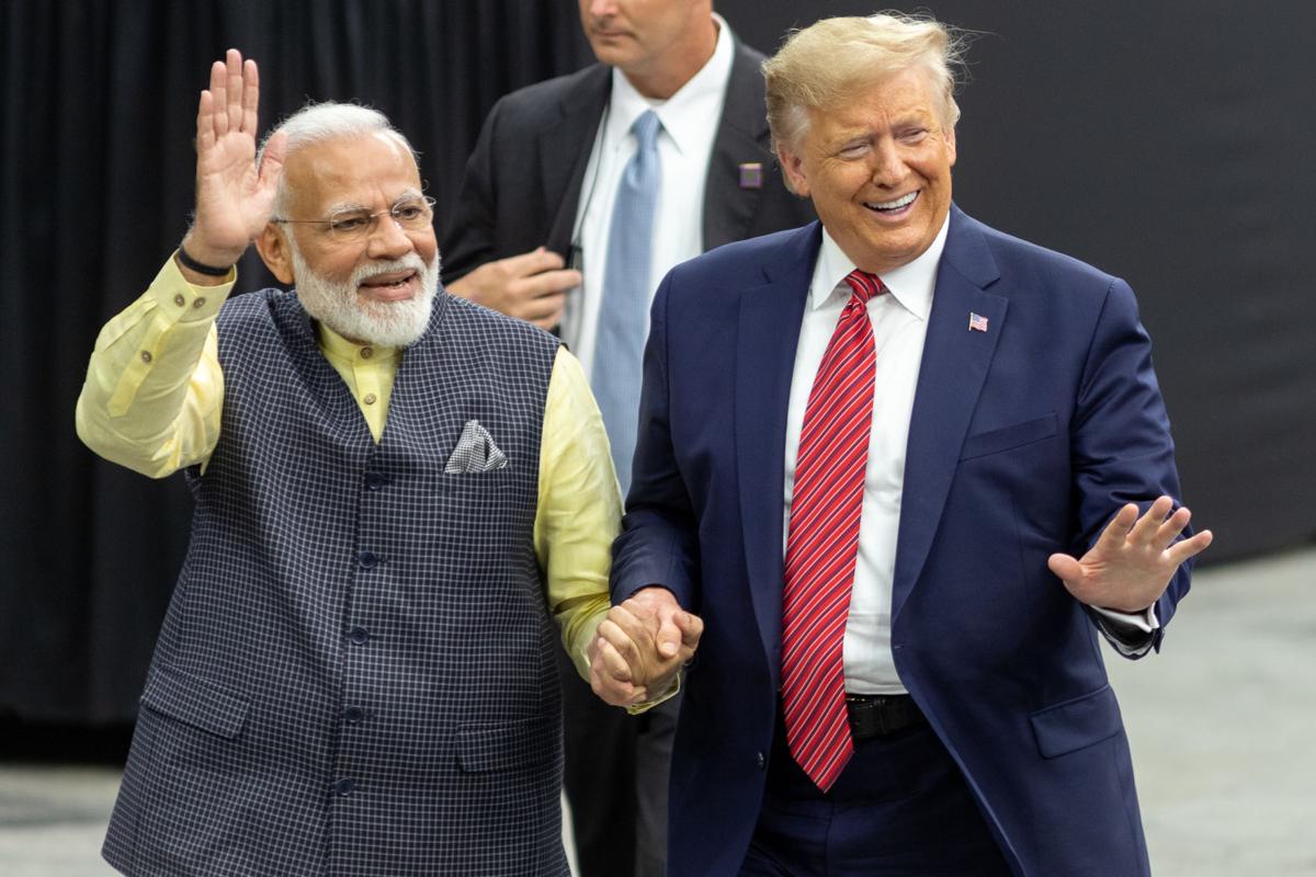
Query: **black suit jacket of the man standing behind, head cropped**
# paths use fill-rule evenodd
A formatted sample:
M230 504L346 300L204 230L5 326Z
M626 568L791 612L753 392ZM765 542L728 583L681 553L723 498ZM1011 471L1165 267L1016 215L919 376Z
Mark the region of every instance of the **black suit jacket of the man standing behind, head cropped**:
M763 55L736 43L704 189L711 250L813 218L775 166L763 101ZM480 131L443 238L443 280L537 246L567 255L586 166L612 91L612 67L592 64L529 85L494 107ZM740 185L740 166L763 164L762 188Z

